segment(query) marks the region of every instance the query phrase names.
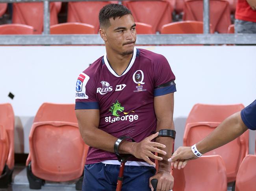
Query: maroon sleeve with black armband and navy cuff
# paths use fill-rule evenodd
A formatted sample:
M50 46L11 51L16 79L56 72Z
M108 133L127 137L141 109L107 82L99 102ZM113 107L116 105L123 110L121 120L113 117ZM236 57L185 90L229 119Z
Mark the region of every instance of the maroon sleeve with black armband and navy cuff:
M176 91L175 76L167 59L160 55L154 63L154 96L161 96Z

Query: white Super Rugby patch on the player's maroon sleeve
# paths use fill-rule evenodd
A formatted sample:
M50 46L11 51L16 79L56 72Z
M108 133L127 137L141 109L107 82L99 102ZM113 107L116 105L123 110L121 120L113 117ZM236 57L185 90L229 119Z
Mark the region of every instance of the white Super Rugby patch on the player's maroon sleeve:
M78 76L76 81L76 99L88 99L89 97L86 95L86 84L89 81L90 77L85 73L81 73Z

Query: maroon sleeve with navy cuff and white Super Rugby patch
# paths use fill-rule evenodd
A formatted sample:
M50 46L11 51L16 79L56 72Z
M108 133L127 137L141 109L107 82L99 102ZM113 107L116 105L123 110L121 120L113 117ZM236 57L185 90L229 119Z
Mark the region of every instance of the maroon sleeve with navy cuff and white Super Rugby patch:
M93 78L81 73L76 81L75 109L99 109Z

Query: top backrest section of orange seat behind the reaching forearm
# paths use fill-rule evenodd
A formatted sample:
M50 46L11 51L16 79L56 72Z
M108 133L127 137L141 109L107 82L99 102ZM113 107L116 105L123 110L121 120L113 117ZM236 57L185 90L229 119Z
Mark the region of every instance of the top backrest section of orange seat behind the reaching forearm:
M195 104L187 117L186 124L194 122L223 122L225 118L237 111L241 111L244 107L243 104Z

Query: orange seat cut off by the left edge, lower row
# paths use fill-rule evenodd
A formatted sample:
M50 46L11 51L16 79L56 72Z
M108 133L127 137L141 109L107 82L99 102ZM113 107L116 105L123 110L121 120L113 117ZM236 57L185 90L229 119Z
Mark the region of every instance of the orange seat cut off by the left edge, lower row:
M0 104L0 187L11 183L14 168L14 113L11 104Z

